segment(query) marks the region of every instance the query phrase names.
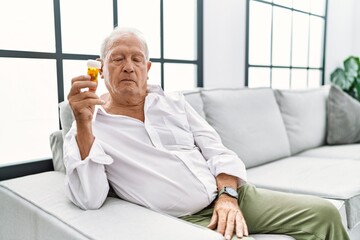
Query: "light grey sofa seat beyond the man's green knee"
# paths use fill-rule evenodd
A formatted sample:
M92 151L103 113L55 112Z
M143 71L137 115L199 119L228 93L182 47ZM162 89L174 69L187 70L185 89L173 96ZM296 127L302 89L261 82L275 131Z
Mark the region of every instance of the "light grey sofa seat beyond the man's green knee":
M248 169L258 187L316 195L345 203L348 228L360 223L360 161L294 156Z

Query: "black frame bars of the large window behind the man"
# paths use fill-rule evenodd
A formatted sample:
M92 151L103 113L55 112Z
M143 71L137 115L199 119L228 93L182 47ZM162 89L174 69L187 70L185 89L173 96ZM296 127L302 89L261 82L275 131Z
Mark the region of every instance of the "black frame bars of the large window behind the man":
M113 5L113 27L118 25L118 0L112 0ZM150 61L161 64L161 86L164 87L164 64L165 63L177 63L177 64L192 64L197 67L196 83L194 87L203 87L203 18L204 7L203 0L196 0L196 60L181 60L181 59L166 59L164 58L164 0L160 0L160 53L159 58L150 58ZM0 49L0 58L30 58L30 59L54 59L56 60L56 76L57 76L57 101L58 103L64 101L64 69L63 60L87 60L98 58L98 55L92 54L72 54L63 53L62 51L62 37L61 37L61 14L60 14L60 0L53 0L54 11L54 29L55 29L55 52L35 52L35 51L20 51L11 49ZM59 129L61 129L60 116L59 116ZM50 135L50 133L49 133ZM0 175L4 176L0 180L9 179L13 177L38 173L36 166L41 164L44 166L41 171L51 171L52 159L31 159L26 160L19 159L14 164L5 164L0 167ZM45 164L43 163L45 161ZM51 163L51 164L50 164ZM12 167L14 166L14 168ZM30 171L31 167L33 169ZM11 168L11 172L8 169ZM8 172L4 175L2 173Z

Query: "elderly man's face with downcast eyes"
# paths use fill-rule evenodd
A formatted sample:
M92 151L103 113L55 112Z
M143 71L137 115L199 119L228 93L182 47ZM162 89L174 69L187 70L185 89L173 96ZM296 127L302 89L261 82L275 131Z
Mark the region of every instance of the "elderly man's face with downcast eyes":
M146 96L148 71L145 47L134 35L122 35L112 42L103 59L102 76L113 97Z

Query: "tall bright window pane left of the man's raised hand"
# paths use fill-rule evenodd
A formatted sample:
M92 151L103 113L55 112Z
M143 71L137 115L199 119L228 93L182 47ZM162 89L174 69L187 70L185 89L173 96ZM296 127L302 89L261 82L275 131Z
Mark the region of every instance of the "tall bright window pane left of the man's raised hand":
M55 60L0 58L0 66L6 69L0 101L7 103L0 164L51 158L49 136L59 129Z

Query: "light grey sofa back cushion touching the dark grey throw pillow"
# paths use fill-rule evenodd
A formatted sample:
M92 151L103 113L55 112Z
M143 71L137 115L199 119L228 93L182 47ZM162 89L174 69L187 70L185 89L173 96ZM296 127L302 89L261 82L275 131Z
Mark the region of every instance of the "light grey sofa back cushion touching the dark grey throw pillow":
M328 86L307 90L275 90L292 155L325 144L328 92Z

